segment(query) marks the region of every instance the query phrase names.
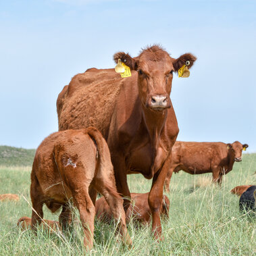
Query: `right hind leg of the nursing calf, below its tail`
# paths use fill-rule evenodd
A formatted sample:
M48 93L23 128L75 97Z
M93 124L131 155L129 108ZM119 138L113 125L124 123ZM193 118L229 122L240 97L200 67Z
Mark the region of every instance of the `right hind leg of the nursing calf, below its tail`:
M118 221L122 240L127 245L131 245L132 240L126 228L126 214L124 212L123 199L116 190L116 182L113 174L111 172L109 174L107 172L99 173L95 178L94 184L99 193L105 197L114 219Z

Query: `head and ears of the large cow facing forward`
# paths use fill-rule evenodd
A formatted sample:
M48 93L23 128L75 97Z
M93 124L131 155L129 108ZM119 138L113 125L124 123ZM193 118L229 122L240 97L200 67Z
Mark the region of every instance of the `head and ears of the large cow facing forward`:
M142 104L153 111L163 111L171 107L173 73L178 72L186 63L191 68L197 58L186 53L174 59L161 47L153 45L143 49L138 57L133 58L128 53L119 52L113 59L116 63L121 59L131 70L138 72L138 93Z

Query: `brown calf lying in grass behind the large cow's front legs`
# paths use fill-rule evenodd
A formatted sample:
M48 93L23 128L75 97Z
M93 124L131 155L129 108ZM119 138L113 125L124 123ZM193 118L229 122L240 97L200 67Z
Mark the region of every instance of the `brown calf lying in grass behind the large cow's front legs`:
M131 193L131 203L126 211L126 220L135 220L142 224L147 224L151 221L151 209L149 208L148 197L149 193ZM169 215L170 201L168 197L163 195L163 201L161 205L161 215ZM95 205L96 215L99 220L110 222L113 218L109 205L105 201L104 197L101 197L96 201Z

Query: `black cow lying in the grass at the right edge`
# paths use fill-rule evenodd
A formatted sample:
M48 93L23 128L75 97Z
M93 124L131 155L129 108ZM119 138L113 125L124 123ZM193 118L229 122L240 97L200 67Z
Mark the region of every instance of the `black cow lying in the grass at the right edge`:
M240 211L256 211L256 186L250 186L239 200Z

